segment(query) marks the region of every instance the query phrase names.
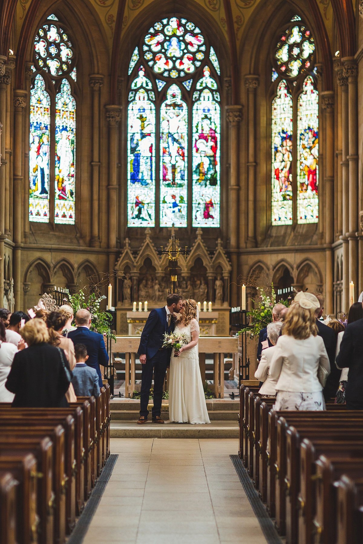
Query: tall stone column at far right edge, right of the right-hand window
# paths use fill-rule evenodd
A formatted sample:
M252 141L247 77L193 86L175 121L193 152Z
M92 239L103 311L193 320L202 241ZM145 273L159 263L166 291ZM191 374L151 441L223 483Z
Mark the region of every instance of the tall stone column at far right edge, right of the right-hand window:
M354 299L358 300L358 67L354 57L342 59L344 75L348 78L349 112L349 281L353 281ZM348 308L347 308L348 310Z

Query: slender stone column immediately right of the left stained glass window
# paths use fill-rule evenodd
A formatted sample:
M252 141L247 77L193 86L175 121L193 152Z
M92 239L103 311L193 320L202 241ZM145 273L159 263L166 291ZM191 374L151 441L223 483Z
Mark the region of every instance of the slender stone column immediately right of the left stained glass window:
M99 193L100 193L100 94L103 85L103 76L94 73L89 76L89 85L93 91L93 141L92 141L92 234L90 245L92 248L99 248L100 240L100 212L99 212Z

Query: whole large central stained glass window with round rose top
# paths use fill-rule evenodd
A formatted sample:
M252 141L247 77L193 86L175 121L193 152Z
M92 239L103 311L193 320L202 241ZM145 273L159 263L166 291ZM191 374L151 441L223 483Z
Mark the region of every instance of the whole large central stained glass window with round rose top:
M218 227L216 51L192 21L165 17L134 48L129 75L128 226Z

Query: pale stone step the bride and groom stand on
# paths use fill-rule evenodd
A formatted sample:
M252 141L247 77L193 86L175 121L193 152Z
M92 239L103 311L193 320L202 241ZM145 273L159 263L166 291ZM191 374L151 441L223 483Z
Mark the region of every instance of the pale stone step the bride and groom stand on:
M189 423L111 422L111 438L238 438L237 421L213 421L205 425Z

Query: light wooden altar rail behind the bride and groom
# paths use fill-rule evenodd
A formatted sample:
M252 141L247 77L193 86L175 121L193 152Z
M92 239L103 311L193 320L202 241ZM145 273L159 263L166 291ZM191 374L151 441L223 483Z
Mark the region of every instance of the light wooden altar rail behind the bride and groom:
M131 398L135 389L135 364L138 358L139 336L116 336L112 343L113 353L125 353L125 397ZM233 359L238 352L238 338L229 336L202 336L199 338L199 367L203 383L205 382L206 354L213 353L213 386L216 398L224 398L224 354L232 353Z

